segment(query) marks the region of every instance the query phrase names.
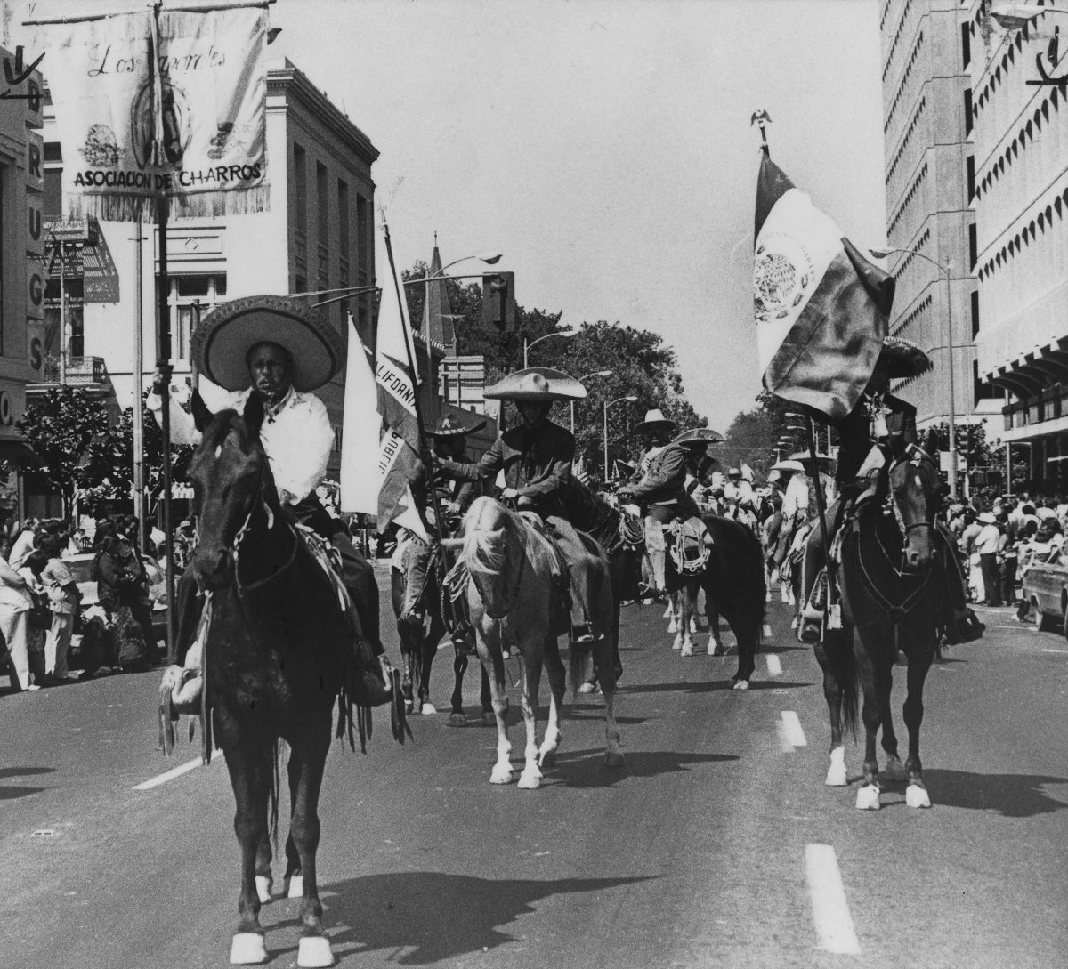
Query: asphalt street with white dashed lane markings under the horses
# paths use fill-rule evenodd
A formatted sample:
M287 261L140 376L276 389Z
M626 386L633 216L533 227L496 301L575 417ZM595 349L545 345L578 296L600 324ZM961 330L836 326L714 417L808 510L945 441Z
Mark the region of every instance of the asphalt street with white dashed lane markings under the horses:
M339 965L1065 964L1064 636L983 610L984 639L928 677L933 807L908 808L890 783L865 812L862 747L847 745L849 787L823 784L820 673L785 606L769 604L748 693L729 688L733 652L681 658L661 614L624 609L623 768L602 765L600 698L582 696L540 790L491 785L496 733L473 726L475 676L472 726L447 725L451 647L431 681L442 713L415 718L414 743L380 722L366 757L334 745L319 877ZM238 852L224 765L135 790L199 756L156 749L158 681L0 696L0 966L226 965ZM276 862L276 890L281 875ZM296 962L298 904L262 912L270 966Z

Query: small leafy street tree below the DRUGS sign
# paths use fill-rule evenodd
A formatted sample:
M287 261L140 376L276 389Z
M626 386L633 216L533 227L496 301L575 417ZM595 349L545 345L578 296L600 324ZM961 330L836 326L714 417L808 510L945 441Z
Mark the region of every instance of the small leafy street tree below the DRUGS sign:
M28 407L18 428L37 456L34 473L63 499L68 514L79 490L87 482L85 462L97 438L108 432L108 415L101 400L85 391L53 387Z

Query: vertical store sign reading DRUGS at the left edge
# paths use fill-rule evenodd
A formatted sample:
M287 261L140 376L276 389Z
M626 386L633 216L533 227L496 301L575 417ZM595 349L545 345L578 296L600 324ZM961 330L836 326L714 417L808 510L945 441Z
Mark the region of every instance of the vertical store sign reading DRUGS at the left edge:
M44 228L44 152L41 136L44 106L41 75L27 81L26 105L26 354L34 377L40 379L44 365L45 335L45 228ZM0 408L0 423L3 423Z

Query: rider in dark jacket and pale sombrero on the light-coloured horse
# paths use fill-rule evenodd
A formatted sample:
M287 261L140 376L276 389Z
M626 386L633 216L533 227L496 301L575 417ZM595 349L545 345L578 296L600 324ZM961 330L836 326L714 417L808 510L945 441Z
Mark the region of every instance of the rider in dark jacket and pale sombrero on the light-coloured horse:
M485 392L497 400L513 400L521 423L502 431L486 454L474 463L444 460L439 467L446 477L462 481L490 481L503 475L502 502L512 502L519 511L534 511L554 533L570 570L577 606L588 617L591 552L567 520L568 489L575 461L575 435L549 419L553 401L585 397L585 387L561 370L530 367L509 374ZM578 617L576 617L578 619ZM588 640L586 630L576 622L572 641Z

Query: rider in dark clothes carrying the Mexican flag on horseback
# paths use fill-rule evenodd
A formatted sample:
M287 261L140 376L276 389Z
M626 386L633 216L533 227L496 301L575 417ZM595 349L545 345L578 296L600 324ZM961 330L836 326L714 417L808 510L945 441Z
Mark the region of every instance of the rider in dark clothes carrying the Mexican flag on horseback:
M849 509L870 484L870 475L886 460L885 456L893 460L916 445L916 409L907 400L893 396L890 382L916 377L929 367L927 354L910 340L895 336L883 340L864 394L837 425L835 480L839 497L827 510L828 546ZM951 644L976 639L983 634L984 626L968 608L955 543L939 527L936 527L934 534L945 543L944 554L933 560L941 565L947 592L944 616L946 638ZM810 599L819 572L826 565L823 547L822 531L817 523L805 546L802 602L806 605L798 628L798 638L802 642L819 642L821 637L822 609L815 607Z

